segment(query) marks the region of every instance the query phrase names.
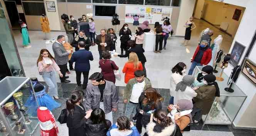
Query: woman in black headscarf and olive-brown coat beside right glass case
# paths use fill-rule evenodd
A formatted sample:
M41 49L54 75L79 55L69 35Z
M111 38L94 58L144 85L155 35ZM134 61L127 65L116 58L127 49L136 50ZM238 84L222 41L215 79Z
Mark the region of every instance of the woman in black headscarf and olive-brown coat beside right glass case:
M209 113L215 97L220 96L219 86L215 80L216 77L214 75L205 75L203 79L205 85L194 88L197 96L194 98L195 103L191 114L195 124L202 119L202 114Z

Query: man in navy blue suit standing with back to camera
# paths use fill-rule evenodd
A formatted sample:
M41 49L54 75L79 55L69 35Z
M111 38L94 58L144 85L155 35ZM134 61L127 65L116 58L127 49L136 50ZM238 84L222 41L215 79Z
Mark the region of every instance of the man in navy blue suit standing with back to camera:
M76 71L76 84L81 86L81 73L83 73L84 81L83 81L83 89L86 89L88 83L88 76L90 70L90 62L89 60L93 60L93 54L91 51L87 51L84 49L85 43L84 41L79 41L78 43L79 50L75 51L71 56L71 62L75 63L75 71Z

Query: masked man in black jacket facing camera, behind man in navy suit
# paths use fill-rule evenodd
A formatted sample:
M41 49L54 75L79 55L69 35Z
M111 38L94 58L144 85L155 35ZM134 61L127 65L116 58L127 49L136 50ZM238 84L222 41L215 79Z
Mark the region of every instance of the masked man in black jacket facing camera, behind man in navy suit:
M79 31L79 35L76 35L73 43L71 44L73 47L75 47L75 51L79 50L79 41L83 41L85 43L84 49L89 51L89 47L91 46L91 40L88 36L84 35L84 30Z

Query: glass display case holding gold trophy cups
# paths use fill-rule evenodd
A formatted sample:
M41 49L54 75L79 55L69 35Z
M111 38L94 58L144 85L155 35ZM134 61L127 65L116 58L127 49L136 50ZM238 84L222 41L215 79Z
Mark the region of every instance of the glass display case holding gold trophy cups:
M7 76L0 90L0 136L31 136L39 125L39 106L30 78ZM31 99L35 104L27 104Z

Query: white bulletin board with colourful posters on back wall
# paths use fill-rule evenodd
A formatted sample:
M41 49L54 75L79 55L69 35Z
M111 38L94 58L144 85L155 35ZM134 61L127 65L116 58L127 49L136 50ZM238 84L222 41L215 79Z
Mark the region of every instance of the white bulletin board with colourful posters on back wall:
M133 23L133 15L138 15L140 23L148 20L150 24L162 24L163 18L171 18L172 7L126 5L125 23Z

